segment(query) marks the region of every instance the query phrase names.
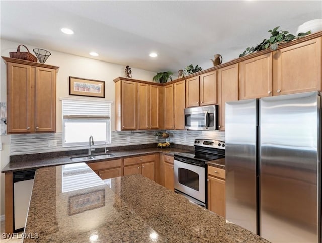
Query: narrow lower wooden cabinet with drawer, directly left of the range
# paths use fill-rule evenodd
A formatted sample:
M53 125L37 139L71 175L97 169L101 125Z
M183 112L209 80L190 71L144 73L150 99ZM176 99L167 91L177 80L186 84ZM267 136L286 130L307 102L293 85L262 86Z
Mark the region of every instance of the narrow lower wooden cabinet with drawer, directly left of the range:
M174 158L169 155L161 155L161 166L162 166L162 185L168 188L171 191L174 191L174 170L173 170L173 161Z

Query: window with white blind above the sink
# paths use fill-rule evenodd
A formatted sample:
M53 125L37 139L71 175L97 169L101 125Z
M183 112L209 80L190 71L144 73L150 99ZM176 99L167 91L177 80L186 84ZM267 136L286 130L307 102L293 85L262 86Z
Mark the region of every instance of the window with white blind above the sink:
M63 147L111 143L110 101L62 100Z

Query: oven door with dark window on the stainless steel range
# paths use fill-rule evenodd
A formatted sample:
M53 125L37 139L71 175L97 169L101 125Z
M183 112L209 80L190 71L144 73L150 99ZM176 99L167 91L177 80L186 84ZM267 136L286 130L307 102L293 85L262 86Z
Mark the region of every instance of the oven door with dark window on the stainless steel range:
M206 168L174 161L175 190L206 203Z

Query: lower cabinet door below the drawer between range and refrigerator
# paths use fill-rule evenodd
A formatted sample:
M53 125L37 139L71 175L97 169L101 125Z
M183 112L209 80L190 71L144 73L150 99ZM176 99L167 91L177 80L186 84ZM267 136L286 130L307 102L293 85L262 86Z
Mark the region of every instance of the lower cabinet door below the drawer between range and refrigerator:
M226 183L211 176L208 176L208 209L226 217Z

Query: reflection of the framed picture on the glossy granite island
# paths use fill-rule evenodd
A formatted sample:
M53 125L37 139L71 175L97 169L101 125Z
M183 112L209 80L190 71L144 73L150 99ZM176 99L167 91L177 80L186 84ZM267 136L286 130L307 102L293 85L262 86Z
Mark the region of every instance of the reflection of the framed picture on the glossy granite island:
M97 190L69 197L69 216L105 206L105 191Z

